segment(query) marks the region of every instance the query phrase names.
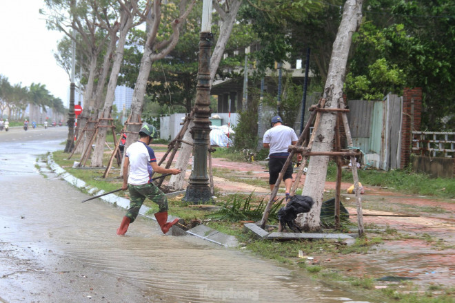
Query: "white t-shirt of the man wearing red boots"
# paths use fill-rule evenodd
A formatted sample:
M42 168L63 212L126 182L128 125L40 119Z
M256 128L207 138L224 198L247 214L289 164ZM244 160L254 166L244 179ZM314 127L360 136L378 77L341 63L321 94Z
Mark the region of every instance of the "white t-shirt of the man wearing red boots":
M126 149L125 157L130 160L128 183L131 185L143 185L150 182L153 173L150 163L156 162L152 147L137 141Z

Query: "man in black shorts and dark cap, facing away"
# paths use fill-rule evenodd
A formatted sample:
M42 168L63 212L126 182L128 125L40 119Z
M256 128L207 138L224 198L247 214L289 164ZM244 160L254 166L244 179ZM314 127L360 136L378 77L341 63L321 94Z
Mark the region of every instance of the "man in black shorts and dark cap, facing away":
M289 145L295 145L297 143L296 133L291 127L283 125L283 120L280 116L274 116L272 118L272 128L268 129L265 132L263 137L263 147L269 148L269 185L270 191L273 191L275 187L275 182L278 179L278 176L283 169L283 166L289 156L287 152L287 147ZM298 154L297 159L301 160L302 155ZM285 196L286 201L289 198L289 194L292 187L292 165L289 165L286 169L286 172L283 176L283 181L285 183Z

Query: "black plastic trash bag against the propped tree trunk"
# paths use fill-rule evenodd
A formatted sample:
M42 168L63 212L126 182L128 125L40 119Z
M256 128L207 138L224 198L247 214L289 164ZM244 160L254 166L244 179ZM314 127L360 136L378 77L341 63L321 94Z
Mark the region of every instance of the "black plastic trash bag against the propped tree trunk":
M278 211L278 220L283 229L286 229L287 225L292 231L301 233L301 229L294 224L294 220L299 213L310 211L313 205L314 200L310 196L292 196L287 205Z

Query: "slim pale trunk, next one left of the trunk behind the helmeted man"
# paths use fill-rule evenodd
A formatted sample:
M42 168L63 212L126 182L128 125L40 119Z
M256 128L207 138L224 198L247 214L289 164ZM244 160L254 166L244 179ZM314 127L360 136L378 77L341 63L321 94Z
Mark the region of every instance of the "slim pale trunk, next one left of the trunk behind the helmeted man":
M128 31L131 28L133 19L130 15L130 12L121 10L121 26L120 26L120 34L119 34L119 41L117 44L117 52L115 54L114 63L112 64L112 71L110 73L110 79L108 84L108 92L106 93L103 111L99 115L99 118L109 118L110 115L110 108L112 108L112 104L114 103L115 98L115 87L117 87L117 79L119 77L121 63L123 61L123 52L125 48L126 36ZM99 123L100 126L106 126L108 123L107 120L103 120ZM99 127L98 134L97 134L97 141L95 143L95 148L92 154L92 161L90 163L91 167L101 167L103 166L103 153L104 153L104 145L106 142L106 134L108 132L107 127ZM90 148L90 146L88 147Z

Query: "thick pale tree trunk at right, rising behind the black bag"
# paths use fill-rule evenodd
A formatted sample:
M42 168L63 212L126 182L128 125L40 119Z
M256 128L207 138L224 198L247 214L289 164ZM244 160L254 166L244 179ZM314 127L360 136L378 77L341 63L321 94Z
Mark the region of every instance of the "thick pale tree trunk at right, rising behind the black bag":
M347 56L350 50L352 34L356 32L361 24L362 3L363 0L347 0L345 3L343 19L336 34L327 72L327 81L323 94L326 107L338 107L338 100L343 98ZM312 151L332 150L335 123L336 114L322 114L319 127L314 136ZM307 213L306 216L299 216L296 220L297 224L301 225L305 230L315 231L321 229L320 215L328 163L328 156L310 157L302 194L311 196L315 203L310 213Z

